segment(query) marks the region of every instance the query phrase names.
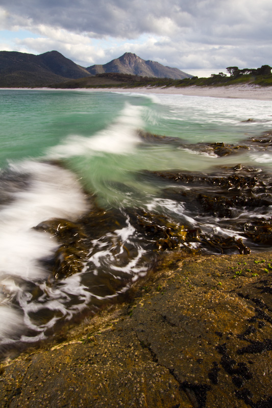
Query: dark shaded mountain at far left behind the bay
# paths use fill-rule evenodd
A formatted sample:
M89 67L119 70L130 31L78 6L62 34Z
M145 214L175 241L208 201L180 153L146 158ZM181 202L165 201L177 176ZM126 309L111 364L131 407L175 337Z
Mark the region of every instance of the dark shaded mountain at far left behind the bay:
M0 52L0 87L46 86L90 75L57 51L41 55Z

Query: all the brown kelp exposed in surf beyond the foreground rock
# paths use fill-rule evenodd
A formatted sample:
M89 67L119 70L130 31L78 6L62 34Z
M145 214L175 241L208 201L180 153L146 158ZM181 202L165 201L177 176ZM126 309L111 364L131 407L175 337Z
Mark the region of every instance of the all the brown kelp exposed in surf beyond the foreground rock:
M269 150L272 146L272 131L245 139L240 144L190 144L176 137L144 131L138 131L138 134L145 144L170 144L176 148L208 152L220 157L245 150ZM95 196L91 195L91 210L77 221L53 219L36 227L37 230L50 233L59 243L53 259L43 260L55 278L81 272L86 265L87 269L91 268L88 266L91 243L93 240L103 240L106 236L112 237L112 247L116 246L113 254L120 267L137 257L137 245L147 251L147 263L149 257L163 251L179 250L185 256L190 253L247 254L251 246L266 249L271 245L272 225L268 215L269 207L272 206L272 177L263 170L237 164L217 166L209 172L143 170L138 173L138 177L141 181L159 185L159 198L182 203L185 212L197 221L204 218L206 225L211 217L211 225L225 228L230 234L219 235L216 228L213 231L212 227L202 227L201 222L196 227L187 225L186 217L181 216L179 219L176 216L172 219L160 213L160 210L151 212L129 207L104 209L97 206ZM27 185L28 180L14 181L15 190L16 183ZM123 190L119 184L116 188ZM254 218L255 211L259 214L258 219ZM128 222L135 228L135 241L124 244L115 232L126 228ZM111 242L105 241L105 245L110 246ZM100 274L105 279L107 274L110 276L103 267L100 268ZM120 279L125 279L125 276L120 274L118 282L113 286L119 287ZM113 293L114 289L110 292Z

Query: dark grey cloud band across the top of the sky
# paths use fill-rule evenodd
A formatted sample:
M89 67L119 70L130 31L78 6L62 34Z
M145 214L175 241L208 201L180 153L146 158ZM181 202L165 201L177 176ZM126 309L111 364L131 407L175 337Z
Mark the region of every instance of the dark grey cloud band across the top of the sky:
M205 37L262 38L271 33L270 0L2 0L3 9L33 24L96 36L203 33ZM224 30L221 30L221 28ZM187 32L188 34L188 32Z

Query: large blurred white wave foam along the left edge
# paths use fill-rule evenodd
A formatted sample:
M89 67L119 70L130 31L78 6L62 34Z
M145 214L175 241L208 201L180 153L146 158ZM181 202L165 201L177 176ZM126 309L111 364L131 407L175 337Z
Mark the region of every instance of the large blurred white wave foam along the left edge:
M87 204L76 177L68 170L34 161L10 167L15 173L30 173L31 180L29 188L13 193L13 201L0 211L0 285L9 298L16 297L26 305L30 299L22 295L13 278L30 282L45 278L38 261L58 246L50 234L33 227L54 217L75 219L87 210ZM0 316L5 322L0 328L3 339L16 326L19 330L23 322L4 294L0 300Z

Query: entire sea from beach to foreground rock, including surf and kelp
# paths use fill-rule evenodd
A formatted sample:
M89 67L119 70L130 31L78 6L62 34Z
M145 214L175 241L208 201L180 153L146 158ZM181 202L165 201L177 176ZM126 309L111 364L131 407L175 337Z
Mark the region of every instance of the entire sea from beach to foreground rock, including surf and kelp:
M54 336L158 254L272 243L271 102L0 90L0 343Z

